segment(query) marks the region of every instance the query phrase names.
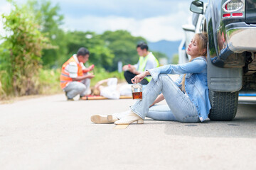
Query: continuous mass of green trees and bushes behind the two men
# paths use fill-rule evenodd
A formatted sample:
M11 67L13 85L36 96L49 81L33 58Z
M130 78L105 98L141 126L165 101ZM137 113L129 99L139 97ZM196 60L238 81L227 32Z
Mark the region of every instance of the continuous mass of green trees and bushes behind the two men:
M3 14L6 35L0 44L0 96L22 96L41 93L41 86L56 83L59 68L75 54L80 47L90 51L88 64L95 64L95 70L104 73L116 71L117 62L136 64L139 56L138 42L146 42L142 37L134 37L126 30L95 32L68 31L63 25L64 16L60 6L50 0L28 0L26 5L13 6L11 13ZM160 52L156 57L166 57ZM53 68L54 72L45 72ZM54 79L48 79L54 73ZM43 75L42 75L43 74ZM38 81L38 77L40 81ZM43 82L50 81L50 83ZM53 82L54 81L54 82ZM47 85L48 84L48 85ZM48 91L48 88L44 88ZM1 97L0 97L1 98Z

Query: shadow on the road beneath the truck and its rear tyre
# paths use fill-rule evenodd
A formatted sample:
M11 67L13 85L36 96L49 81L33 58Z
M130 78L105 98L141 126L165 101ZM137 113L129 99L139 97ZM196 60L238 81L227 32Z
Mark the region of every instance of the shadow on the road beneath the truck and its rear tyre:
M203 123L166 123L166 135L193 137L246 137L256 138L256 105L238 105L233 121L210 121Z

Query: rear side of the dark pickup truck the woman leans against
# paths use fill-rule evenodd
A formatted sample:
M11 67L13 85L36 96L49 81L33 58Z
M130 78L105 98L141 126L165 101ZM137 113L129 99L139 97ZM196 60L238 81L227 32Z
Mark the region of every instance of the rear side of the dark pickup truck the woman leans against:
M256 90L256 0L193 1L208 34L210 120L233 120L239 91Z

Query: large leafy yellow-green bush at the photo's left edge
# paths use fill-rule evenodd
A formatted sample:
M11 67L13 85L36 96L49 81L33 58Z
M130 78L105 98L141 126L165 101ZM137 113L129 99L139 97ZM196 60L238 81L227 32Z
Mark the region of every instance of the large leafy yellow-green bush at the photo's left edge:
M38 30L33 13L9 2L14 8L9 15L2 15L6 36L0 54L1 89L15 96L36 94L42 50L51 45Z

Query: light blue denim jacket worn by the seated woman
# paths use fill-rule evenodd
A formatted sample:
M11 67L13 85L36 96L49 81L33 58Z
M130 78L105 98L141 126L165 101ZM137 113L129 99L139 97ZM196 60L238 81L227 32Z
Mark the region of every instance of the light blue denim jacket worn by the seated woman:
M196 106L198 117L203 122L208 118L210 112L209 89L207 85L207 63L206 57L196 57L186 64L169 64L155 69L149 69L154 81L159 74L186 74L185 90L192 103ZM175 84L181 88L183 75Z

